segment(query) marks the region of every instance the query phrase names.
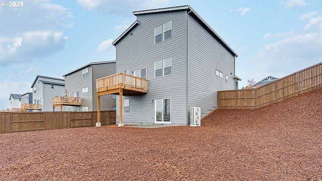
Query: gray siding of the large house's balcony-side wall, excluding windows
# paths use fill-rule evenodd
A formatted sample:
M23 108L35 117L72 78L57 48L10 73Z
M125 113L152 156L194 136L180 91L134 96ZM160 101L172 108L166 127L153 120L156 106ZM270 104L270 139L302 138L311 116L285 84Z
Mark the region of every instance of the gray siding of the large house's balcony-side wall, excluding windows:
M172 124L187 124L187 24L186 11L138 15L139 25L116 44L116 71L147 68L148 91L129 99L130 113L124 124L154 124L152 100L171 98ZM154 28L172 20L172 38L154 44ZM154 78L154 61L172 57L172 75ZM117 97L117 122L119 107Z

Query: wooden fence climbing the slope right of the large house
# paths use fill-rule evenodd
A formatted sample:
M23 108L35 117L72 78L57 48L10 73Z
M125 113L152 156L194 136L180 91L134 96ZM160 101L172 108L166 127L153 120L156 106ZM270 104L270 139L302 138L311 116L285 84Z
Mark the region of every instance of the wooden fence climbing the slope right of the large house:
M322 62L253 89L218 91L218 109L257 109L322 86Z

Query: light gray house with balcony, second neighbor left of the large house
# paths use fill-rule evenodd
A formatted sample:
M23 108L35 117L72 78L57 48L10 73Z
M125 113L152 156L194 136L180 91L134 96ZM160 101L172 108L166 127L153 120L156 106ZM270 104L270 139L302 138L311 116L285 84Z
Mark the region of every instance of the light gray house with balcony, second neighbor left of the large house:
M31 88L33 104L41 105L42 112L52 112L52 98L65 95L65 81L61 78L37 75Z

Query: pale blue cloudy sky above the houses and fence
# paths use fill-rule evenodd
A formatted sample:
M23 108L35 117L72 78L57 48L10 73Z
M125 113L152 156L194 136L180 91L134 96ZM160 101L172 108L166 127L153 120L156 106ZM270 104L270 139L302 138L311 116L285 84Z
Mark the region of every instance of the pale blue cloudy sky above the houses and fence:
M31 92L37 75L63 78L90 62L115 60L112 42L134 23L134 11L190 5L238 54L239 86L322 61L320 0L18 2L0 7L0 110L10 108L10 94Z

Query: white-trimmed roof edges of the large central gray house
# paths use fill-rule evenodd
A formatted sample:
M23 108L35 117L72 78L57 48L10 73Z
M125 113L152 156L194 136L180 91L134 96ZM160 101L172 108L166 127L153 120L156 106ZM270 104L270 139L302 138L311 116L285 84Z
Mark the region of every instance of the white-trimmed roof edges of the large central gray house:
M160 8L153 10L144 10L144 11L135 11L133 15L143 15L143 14L151 14L151 13L164 13L171 11L182 11L186 10L189 15L193 16L201 26L203 26L221 45L223 45L233 56L237 57L237 53L232 50L232 48L189 6L178 6L178 7L170 7L170 8ZM135 21L121 36L119 36L112 45L116 45L121 39L125 37L134 27L139 24L138 21Z

